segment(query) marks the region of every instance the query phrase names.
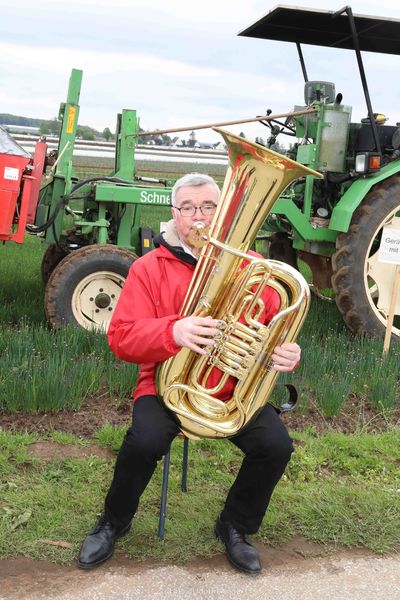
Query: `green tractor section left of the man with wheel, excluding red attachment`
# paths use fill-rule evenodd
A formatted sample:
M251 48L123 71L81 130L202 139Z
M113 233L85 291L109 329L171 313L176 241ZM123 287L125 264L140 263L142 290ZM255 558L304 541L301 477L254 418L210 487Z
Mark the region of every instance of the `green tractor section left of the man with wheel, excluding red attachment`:
M118 115L113 172L84 180L74 177L81 78L82 72L74 69L67 103L60 109L55 170L41 189L36 214L49 244L42 262L44 304L53 327L73 324L107 330L132 262L152 248L153 232L143 225L142 211L149 215L153 207L161 207L167 217L170 188L166 180L135 175L139 125L134 110Z

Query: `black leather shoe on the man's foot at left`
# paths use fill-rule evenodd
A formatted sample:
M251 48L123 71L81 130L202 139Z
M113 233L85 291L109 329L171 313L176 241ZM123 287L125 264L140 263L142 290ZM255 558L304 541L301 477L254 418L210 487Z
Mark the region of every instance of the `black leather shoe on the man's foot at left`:
M127 533L130 528L131 524L128 523L122 529L118 529L102 513L95 527L83 541L78 565L82 569L92 569L111 558L114 553L115 541Z

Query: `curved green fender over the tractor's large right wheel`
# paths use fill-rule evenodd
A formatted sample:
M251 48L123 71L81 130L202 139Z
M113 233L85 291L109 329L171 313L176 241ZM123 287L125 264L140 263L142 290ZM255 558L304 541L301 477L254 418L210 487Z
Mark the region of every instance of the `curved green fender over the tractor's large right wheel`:
M339 202L336 204L332 211L331 220L329 222L329 229L334 231L347 232L354 211L361 204L362 200L370 189L383 181L397 175L400 172L400 163L396 161L383 167L379 173L376 173L372 177L357 179L343 194Z

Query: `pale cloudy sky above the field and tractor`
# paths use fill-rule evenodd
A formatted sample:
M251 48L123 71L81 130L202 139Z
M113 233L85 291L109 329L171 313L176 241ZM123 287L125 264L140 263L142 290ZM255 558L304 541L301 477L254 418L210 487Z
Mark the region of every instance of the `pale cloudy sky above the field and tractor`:
M291 4L290 2L284 4ZM277 2L269 0L14 0L0 7L0 112L51 119L66 99L72 68L83 70L81 125L115 131L136 109L143 129L250 119L303 105L292 43L238 37ZM299 0L338 10L345 0ZM400 19L398 0L353 0L355 14ZM302 46L310 80L335 83L352 120L366 116L350 50ZM373 109L400 121L400 56L363 53ZM263 125L226 127L249 139ZM187 134L177 134L188 137ZM212 130L199 141L218 141ZM284 140L282 140L284 141Z

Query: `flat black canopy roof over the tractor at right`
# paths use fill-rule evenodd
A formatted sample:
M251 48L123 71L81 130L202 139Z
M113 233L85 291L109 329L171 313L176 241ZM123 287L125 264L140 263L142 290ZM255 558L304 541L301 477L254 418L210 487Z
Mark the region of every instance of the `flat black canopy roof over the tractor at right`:
M356 14L353 17L360 50L400 54L399 19ZM278 5L238 35L355 50L346 14L297 6Z

